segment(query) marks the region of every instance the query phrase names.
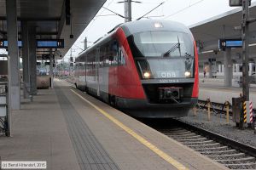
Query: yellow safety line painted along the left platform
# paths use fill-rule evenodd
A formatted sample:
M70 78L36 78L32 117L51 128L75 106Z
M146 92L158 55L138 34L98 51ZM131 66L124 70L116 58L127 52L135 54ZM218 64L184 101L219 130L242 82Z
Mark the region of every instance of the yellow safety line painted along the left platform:
M83 96L81 96L80 94L78 94L77 92L75 92L73 89L70 89L74 94L78 95L79 98L83 99L85 102L87 102L88 104L90 104L91 106L93 106L97 111L101 112L102 115L108 117L108 119L112 122L114 122L116 125L118 125L119 127L121 127L123 130L125 130L126 133L131 134L131 136L133 136L135 139L137 139L140 143L144 144L145 146L147 146L150 150L154 151L155 154L157 154L158 156L160 156L161 158L163 158L164 160L168 161L170 164L172 164L173 167L176 167L178 170L184 170L184 169L189 169L188 167L183 166L183 164L181 164L179 161L176 161L175 159L173 159L171 156L168 156L164 151L160 150L158 147L156 147L154 144L151 144L150 142L148 142L147 139L144 139L142 136L140 136L139 134L135 133L133 130L131 130L131 128L126 127L122 122L119 122L119 120L117 120L116 118L114 118L113 116L109 115L106 111L103 111L101 108L99 108L98 106L94 105L93 103L91 103L89 100L84 99Z

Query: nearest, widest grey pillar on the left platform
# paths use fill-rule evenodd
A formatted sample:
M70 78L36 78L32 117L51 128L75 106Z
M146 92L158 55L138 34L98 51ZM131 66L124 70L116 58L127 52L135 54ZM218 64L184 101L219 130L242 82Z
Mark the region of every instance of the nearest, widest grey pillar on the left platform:
M20 57L16 0L6 0L8 54L10 58L10 108L20 110Z

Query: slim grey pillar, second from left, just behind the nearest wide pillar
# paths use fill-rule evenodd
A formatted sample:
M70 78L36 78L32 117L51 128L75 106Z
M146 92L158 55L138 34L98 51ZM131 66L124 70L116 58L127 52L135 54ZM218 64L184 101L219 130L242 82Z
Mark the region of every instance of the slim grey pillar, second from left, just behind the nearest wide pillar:
M29 76L29 59L28 59L28 27L27 22L22 21L21 23L22 32L22 66L23 66L23 97L24 99L29 98L28 87L30 86Z

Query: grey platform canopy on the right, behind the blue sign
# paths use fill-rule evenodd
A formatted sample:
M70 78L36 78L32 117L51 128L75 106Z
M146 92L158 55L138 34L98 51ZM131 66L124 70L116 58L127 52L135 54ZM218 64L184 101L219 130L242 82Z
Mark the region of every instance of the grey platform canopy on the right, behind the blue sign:
M252 3L250 7L250 17L256 18L256 3ZM218 51L218 39L241 38L241 30L237 30L237 26L241 26L241 8L235 8L189 26L195 40L201 44L200 62L207 61L209 58L223 61L224 53ZM256 22L250 24L249 32L249 43L251 44L249 57L256 61ZM233 59L239 62L241 60L241 48L232 48L231 55Z

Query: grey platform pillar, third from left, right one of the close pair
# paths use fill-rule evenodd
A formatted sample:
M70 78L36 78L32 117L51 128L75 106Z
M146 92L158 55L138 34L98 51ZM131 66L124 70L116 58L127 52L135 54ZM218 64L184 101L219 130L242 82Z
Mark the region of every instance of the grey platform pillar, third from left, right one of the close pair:
M28 29L28 44L29 44L29 73L30 73L30 85L31 92L36 95L37 89L37 40L36 40L36 27L32 24Z

